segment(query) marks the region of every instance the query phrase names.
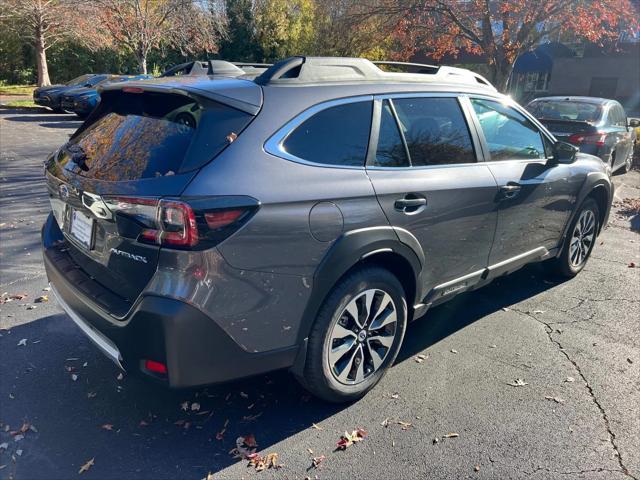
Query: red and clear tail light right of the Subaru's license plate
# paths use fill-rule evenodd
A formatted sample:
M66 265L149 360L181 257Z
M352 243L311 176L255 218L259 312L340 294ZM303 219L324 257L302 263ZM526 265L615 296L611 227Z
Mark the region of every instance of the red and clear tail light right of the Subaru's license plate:
M181 249L216 245L244 225L259 205L249 197L199 198L184 202L115 196L105 197L104 202L116 221L121 215L139 225L135 230L139 242ZM130 234L130 229L128 232Z

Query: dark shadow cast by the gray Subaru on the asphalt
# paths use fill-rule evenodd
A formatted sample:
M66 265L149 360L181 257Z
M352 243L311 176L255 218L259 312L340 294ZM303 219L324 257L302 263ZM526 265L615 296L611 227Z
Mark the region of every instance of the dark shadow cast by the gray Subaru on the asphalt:
M409 327L397 362L550 288L541 272L527 267L505 280L509 288L497 280L432 309ZM0 333L0 422L10 425L0 429L0 444L8 442L5 454L14 458L22 451L7 467L16 478L69 478L93 457L100 478L201 478L238 461L229 451L239 435L255 434L260 451L269 451L349 407L315 399L286 372L180 391L119 378L64 314ZM17 443L9 432L23 422L37 431Z

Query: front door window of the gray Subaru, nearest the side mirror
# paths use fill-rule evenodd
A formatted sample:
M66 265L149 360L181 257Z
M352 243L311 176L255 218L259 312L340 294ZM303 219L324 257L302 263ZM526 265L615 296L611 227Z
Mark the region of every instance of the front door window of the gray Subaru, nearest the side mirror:
M542 135L520 112L493 100L473 98L491 160L546 158Z

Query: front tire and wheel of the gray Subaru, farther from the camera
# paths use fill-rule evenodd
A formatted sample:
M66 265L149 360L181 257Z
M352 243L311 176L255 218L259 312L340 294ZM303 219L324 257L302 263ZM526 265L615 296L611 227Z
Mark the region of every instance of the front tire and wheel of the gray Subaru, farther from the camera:
M573 278L580 273L589 260L599 228L600 209L589 197L571 221L560 256L546 262L550 272L564 278Z

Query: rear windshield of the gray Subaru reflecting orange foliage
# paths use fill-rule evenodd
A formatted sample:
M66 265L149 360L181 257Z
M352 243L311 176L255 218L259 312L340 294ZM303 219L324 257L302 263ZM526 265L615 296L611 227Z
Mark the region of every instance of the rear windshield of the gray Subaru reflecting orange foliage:
M75 164L77 174L107 181L198 168L233 141L252 118L226 105L184 95L121 91L103 92L97 117L61 153Z

